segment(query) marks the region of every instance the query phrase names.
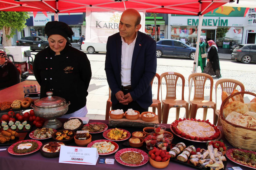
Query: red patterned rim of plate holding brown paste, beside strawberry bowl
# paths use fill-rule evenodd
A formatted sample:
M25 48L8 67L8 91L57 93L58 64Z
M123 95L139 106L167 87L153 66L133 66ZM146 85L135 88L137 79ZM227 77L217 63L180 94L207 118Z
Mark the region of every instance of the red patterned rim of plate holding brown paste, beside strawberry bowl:
M136 153L140 153L143 157L142 161L139 163L139 164L128 164L126 162L124 162L120 155L124 152L136 152ZM141 166L141 165L144 165L148 162L148 154L140 149L137 149L137 148L124 148L124 149L121 149L119 151L116 152L115 154L115 159L117 162L119 162L120 164L123 164L125 166Z

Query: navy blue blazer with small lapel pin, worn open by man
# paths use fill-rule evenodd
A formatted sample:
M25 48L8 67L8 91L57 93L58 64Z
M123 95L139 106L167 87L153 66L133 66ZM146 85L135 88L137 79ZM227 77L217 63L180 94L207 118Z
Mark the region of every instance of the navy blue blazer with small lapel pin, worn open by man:
M105 71L111 89L111 101L117 104L116 92L121 90L122 40L119 33L108 37ZM132 55L131 85L132 100L140 107L152 104L151 81L156 75L156 41L138 31Z

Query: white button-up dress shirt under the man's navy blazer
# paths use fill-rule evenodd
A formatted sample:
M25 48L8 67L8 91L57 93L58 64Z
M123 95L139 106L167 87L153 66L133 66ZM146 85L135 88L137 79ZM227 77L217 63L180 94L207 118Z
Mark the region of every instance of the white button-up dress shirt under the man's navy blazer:
M122 39L122 55L121 55L121 83L123 86L131 85L131 67L132 67L132 54L135 46L136 38L131 44L124 42Z

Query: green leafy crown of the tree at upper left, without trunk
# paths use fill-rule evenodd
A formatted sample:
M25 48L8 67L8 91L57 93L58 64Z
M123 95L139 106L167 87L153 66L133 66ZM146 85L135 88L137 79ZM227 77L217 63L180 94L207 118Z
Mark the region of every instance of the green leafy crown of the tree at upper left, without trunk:
M11 34L6 35L10 39L16 34L16 29L21 31L26 27L26 19L28 18L28 12L0 11L0 28L2 29L3 26L12 28Z

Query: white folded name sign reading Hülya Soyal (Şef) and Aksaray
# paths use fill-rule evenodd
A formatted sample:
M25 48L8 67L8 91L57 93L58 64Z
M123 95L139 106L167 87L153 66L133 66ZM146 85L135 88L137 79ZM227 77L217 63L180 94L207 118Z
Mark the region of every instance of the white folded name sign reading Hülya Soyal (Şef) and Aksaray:
M98 158L97 148L60 146L59 163L96 165Z

